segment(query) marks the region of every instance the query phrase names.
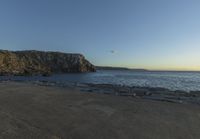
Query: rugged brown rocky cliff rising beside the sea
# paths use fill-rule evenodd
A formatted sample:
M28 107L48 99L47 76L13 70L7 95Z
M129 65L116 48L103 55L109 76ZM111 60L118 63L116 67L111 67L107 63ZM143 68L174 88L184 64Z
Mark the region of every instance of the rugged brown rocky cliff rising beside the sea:
M1 75L34 75L94 72L95 67L81 54L42 51L0 51Z

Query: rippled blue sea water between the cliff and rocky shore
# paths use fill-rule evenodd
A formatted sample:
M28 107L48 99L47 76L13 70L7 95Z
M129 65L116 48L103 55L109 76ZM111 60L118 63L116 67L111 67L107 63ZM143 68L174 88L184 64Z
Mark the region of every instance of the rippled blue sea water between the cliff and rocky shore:
M53 81L61 83L117 84L141 87L163 87L170 90L200 91L200 72L136 72L126 70L99 70L95 73L55 74L42 76L1 76L0 80Z

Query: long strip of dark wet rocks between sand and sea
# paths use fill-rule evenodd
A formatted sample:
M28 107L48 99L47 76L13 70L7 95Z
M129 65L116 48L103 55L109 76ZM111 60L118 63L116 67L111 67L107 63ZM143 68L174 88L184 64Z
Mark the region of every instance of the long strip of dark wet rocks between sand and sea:
M23 81L22 81L23 83ZM192 103L200 105L200 91L172 91L161 87L138 87L122 86L113 84L91 84L91 83L59 83L49 81L29 82L41 86L52 86L61 88L77 89L81 92L100 93L113 96L126 96L154 101L166 101L172 103Z

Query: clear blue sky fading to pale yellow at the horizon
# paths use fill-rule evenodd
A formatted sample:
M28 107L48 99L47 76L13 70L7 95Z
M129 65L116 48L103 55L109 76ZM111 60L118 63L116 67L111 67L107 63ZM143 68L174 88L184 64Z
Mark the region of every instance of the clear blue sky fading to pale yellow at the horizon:
M0 49L94 65L200 70L199 0L0 0Z

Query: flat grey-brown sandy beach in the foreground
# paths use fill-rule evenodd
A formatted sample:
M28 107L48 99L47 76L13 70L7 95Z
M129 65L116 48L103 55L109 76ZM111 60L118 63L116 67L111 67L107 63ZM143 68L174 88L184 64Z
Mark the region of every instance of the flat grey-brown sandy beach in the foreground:
M200 106L0 83L2 139L199 139Z

